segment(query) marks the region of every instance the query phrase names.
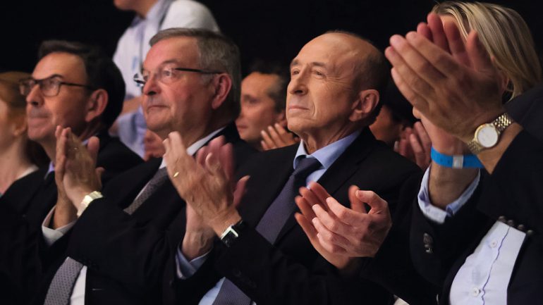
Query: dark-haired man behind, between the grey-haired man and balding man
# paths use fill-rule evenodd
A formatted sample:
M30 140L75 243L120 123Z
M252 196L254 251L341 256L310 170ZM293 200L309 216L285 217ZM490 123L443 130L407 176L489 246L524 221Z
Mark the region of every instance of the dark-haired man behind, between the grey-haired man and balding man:
M268 147L264 142L266 137L271 139L268 132L274 132L274 136L279 135L277 132L284 133L285 137L290 135L287 140L293 138L292 134L284 131L288 78L288 70L281 69L279 63L257 61L241 82L241 113L236 119L236 126L240 137L255 149L276 148ZM282 144L282 139L277 140ZM287 144L293 143L288 141Z

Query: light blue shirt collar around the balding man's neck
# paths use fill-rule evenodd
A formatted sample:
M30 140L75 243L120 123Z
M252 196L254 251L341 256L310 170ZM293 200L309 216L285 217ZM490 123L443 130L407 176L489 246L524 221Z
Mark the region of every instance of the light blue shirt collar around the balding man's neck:
M349 147L349 145L353 143L358 135L360 135L360 132L362 132L362 130L357 130L348 135L347 137L338 139L336 142L328 144L327 146L322 147L322 149L318 149L310 155L307 154L304 143L303 141L301 141L293 161L293 168L296 168L296 166L298 166L300 157L312 156L314 158L317 158L317 160L322 164L325 169L328 169L336 161L336 159L341 156L341 154L343 154L343 151L345 151L347 147Z

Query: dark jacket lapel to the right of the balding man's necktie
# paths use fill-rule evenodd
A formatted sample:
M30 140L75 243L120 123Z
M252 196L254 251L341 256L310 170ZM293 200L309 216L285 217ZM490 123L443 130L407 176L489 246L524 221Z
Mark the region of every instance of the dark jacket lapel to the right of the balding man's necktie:
M356 173L359 164L364 161L368 154L370 154L375 143L376 140L369 128L364 128L355 141L337 158L317 182L319 182L329 194L336 197L338 189L345 185L347 180ZM292 230L295 225L298 225L294 218L294 213L298 211L300 211L298 206L295 206L292 215L288 217L281 232L279 232L276 243L278 243L288 231Z

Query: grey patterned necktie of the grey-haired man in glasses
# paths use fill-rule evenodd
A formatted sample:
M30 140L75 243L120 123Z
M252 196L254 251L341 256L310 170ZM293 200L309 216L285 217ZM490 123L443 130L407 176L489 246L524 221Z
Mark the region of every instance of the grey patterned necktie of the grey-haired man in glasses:
M147 183L140 196L138 196L130 206L124 209L128 214L134 213L145 200L157 191L157 189L168 179L166 168L160 168L153 178ZM67 257L62 263L59 270L56 270L53 280L47 290L44 305L68 305L72 295L73 285L75 280L83 268L83 264L75 261L71 257Z

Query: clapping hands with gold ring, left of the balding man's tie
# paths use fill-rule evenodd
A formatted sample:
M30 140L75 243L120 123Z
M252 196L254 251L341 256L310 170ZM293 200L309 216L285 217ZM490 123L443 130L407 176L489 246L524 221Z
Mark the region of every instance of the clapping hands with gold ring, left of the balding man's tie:
M196 160L187 154L178 132L169 134L164 147L166 168L173 186L202 217L205 225L221 235L229 225L241 219L236 204L248 177L240 179L233 187L232 145L224 144L224 137L214 139L200 149Z

